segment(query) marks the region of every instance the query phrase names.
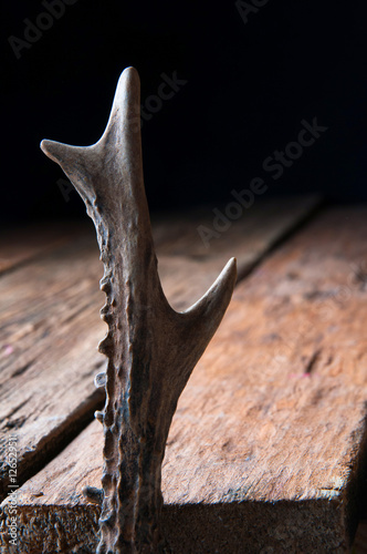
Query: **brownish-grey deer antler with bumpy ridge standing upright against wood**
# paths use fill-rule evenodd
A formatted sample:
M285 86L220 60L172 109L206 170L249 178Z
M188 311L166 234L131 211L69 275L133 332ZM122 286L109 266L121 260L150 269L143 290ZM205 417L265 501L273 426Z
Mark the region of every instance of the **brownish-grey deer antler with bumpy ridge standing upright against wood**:
M102 138L92 146L42 141L86 204L104 263L99 343L108 358L103 422L103 491L98 554L162 552L161 463L177 401L216 332L235 283L232 258L190 309L175 311L157 271L144 189L139 78L127 68L118 81Z

